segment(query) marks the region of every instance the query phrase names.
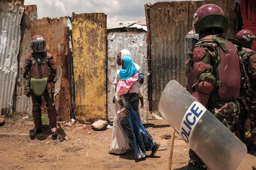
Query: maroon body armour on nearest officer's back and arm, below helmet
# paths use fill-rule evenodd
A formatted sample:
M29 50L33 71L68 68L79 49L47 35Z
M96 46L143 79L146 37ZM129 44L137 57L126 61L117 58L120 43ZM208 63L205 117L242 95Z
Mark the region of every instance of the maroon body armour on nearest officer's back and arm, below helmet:
M240 59L236 46L223 38L209 35L194 49L197 78L194 97L203 105L208 101L232 101L240 94Z

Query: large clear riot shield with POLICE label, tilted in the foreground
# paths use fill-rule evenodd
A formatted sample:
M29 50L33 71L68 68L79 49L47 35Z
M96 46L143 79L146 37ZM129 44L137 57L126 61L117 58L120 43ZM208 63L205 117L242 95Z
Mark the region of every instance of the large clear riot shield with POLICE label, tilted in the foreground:
M177 81L171 80L159 102L162 117L210 170L236 170L247 148Z

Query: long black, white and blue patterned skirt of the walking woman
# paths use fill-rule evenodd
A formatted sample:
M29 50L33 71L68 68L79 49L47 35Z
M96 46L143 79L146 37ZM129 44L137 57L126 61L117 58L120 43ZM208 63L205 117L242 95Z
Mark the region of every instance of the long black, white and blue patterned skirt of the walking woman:
M135 160L144 158L153 147L153 138L143 126L139 116L139 96L129 93L122 96L126 111L115 115L110 152L135 152ZM120 106L115 101L116 111Z

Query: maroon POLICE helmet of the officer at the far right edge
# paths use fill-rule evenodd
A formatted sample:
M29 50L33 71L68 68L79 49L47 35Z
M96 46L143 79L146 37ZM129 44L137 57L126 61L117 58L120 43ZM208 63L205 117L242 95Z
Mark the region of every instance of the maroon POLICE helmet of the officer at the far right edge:
M251 30L241 30L236 34L236 40L238 40L246 48L252 48L252 43L256 36L253 35Z

